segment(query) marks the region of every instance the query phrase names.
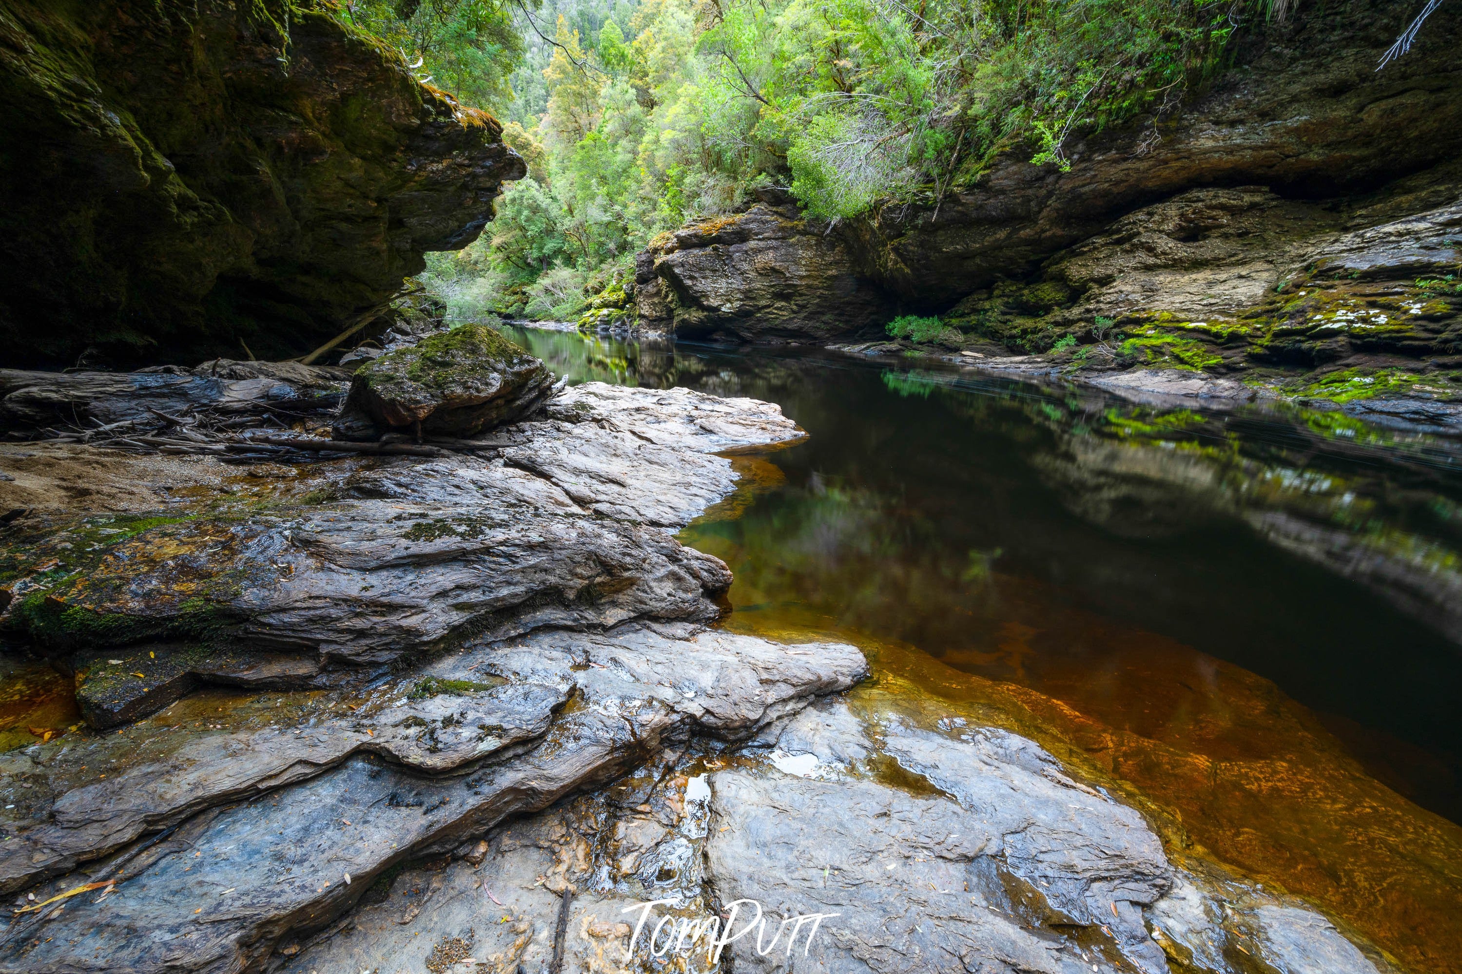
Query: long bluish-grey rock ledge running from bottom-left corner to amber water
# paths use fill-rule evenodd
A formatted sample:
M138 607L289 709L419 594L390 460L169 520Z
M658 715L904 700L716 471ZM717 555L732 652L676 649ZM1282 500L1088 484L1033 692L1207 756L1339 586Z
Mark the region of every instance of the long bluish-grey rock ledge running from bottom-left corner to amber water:
M262 962L275 946L287 948L285 935L326 927L396 863L450 853L507 816L623 774L668 742L749 736L866 673L852 647L797 648L684 626L541 632L510 645L468 647L444 664L442 679L471 672L507 683L553 680L573 688L576 705L541 745L512 761L481 764L459 753L465 764L455 770L469 774L421 777L406 765L354 756L304 784L190 819L178 832L187 834L183 848L155 851L142 866L99 860L85 876L54 883L63 891L82 878L105 882L123 869L129 876L121 895L104 904L73 900L64 911L41 911L50 939L38 936L39 926L26 930L31 936L6 946L6 961L28 970Z

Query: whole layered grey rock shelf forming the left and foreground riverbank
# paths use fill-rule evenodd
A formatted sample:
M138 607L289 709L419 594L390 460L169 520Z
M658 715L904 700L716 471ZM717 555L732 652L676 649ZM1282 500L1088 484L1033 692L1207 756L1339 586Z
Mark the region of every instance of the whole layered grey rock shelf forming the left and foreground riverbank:
M91 721L0 756L12 965L617 970L623 907L751 897L846 914L833 965L1389 970L1053 756L1034 711L892 675L804 710L863 653L703 629L731 575L668 532L775 483L719 454L803 437L750 399L585 384L447 457L6 445L4 507L50 498L4 529L7 634ZM887 892L923 911L892 940Z

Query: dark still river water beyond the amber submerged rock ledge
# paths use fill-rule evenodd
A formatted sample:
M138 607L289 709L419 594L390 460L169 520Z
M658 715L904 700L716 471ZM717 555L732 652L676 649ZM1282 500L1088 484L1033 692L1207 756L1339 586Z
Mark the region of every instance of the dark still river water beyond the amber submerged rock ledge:
M738 460L743 496L681 534L735 571L727 625L895 644L1209 752L1215 708L1224 748L1288 733L1228 713L1272 680L1462 821L1456 444L811 349L510 331L572 381L753 396L810 434Z

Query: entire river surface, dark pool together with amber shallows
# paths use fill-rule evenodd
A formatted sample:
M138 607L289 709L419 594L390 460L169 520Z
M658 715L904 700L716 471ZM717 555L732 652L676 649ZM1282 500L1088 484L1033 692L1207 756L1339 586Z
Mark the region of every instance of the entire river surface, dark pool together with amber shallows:
M849 640L908 692L1019 711L1171 816L1170 847L1462 970L1462 444L510 331L572 381L754 396L810 434L735 457L741 489L680 536L734 570L725 626Z

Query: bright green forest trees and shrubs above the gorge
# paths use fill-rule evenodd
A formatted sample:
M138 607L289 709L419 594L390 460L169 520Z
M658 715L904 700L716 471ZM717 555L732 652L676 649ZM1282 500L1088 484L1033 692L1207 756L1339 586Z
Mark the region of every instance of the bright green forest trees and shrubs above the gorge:
M633 254L762 185L813 216L939 200L1006 150L1174 111L1284 0L349 0L529 165L434 256L459 314L566 318Z

